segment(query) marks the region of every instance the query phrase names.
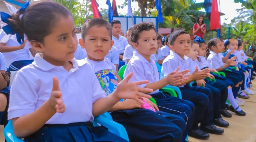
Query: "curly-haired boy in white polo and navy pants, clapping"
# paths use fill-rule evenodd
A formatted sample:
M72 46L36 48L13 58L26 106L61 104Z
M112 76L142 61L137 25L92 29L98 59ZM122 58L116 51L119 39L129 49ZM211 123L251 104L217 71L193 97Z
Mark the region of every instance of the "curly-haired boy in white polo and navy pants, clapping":
M131 81L149 80L148 84L143 84L140 87L154 90L153 93L149 94L156 100L159 110L181 116L187 122L187 128L182 138L182 141L185 141L193 122L193 103L168 95L165 96L163 93L159 92L159 89L168 84L179 85L179 82L184 78L183 75L178 73L174 75L173 73L167 78L159 80L156 62L151 58L157 51L156 26L153 23L142 22L134 25L132 27L130 40L132 46L138 52L133 52L132 59L127 64L124 71L124 77L133 72L133 77L130 79ZM184 73L186 73L186 71L184 71Z

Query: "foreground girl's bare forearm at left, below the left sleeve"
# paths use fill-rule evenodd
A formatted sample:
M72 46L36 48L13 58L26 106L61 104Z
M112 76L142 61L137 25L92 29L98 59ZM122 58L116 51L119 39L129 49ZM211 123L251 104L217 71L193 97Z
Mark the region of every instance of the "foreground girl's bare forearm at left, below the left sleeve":
M15 136L25 138L35 133L43 127L55 113L56 111L50 107L49 102L45 101L44 104L34 112L19 118L13 118L12 124Z

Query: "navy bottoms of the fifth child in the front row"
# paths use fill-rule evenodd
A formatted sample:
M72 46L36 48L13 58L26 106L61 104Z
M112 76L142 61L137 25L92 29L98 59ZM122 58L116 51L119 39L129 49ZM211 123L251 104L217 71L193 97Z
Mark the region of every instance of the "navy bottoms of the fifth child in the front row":
M220 98L216 97L215 94L212 90L212 94L213 94L213 103L214 103L214 118L221 118L220 115L220 111L221 109L226 109L225 103L228 99L228 86L225 83L225 81L220 81L220 80L216 80L216 81L209 81L205 79L205 82L207 83L206 87L208 87L208 84L213 86L213 88L210 88L211 90L214 89L218 89L220 91ZM218 92L218 91L217 91ZM217 106L218 104L218 106ZM220 104L220 105L219 105Z

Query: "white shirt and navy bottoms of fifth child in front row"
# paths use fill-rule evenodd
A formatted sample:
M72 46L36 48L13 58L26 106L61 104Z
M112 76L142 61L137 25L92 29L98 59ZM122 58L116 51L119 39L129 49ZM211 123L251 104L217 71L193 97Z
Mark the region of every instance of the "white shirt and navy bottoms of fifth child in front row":
M185 59L188 62L188 69L190 70L191 73L196 70L196 66L200 68L200 66L197 64L197 59L195 61L193 61L193 59L189 57L185 57ZM213 118L219 119L221 118L221 105L225 106L225 102L228 98L228 86L225 83L209 81L207 79L204 80L206 82L205 87L211 89L212 91L214 110ZM197 86L196 82L192 83L192 86Z

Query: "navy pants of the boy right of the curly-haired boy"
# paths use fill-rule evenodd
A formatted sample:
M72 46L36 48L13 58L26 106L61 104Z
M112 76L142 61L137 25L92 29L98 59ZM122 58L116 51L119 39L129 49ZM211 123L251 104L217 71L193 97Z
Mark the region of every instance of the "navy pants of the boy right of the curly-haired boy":
M182 99L191 101L195 106L195 118L192 130L199 129L202 125L213 124L213 98L212 91L206 87L184 86L180 87Z

